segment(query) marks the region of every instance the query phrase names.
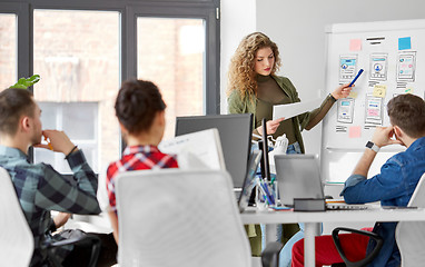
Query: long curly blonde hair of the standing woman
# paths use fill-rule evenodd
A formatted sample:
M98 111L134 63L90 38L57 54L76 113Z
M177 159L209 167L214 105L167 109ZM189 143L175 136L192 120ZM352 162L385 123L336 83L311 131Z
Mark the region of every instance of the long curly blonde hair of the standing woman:
M257 80L255 67L256 53L261 48L270 48L275 56L275 63L271 68L271 75L275 75L280 67L279 50L275 42L263 32L253 32L246 36L239 43L231 57L228 72L228 91L239 90L243 98L246 96L257 96Z

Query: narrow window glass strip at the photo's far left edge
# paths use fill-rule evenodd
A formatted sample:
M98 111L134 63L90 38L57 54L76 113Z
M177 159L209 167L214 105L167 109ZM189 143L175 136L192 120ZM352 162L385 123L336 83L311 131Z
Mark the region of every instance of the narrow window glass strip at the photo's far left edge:
M17 16L0 13L0 91L17 82Z

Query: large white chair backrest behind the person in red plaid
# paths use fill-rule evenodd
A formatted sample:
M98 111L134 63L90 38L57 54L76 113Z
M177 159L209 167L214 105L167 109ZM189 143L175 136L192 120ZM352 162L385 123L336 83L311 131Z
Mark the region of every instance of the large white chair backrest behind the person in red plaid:
M227 172L127 171L116 196L121 267L251 265Z

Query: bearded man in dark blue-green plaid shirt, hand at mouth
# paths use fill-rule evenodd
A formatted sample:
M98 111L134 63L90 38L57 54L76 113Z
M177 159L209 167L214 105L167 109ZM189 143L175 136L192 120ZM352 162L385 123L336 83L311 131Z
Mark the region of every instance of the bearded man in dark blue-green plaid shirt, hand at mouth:
M0 93L0 167L8 170L28 225L34 238L30 266L47 266L46 244L50 235L50 211L95 215L100 212L97 200L98 180L85 155L66 134L42 130L41 110L24 89L6 89ZM45 136L49 146L40 145ZM68 179L50 165L30 164L31 146L62 152L73 176ZM58 251L66 258L69 250Z

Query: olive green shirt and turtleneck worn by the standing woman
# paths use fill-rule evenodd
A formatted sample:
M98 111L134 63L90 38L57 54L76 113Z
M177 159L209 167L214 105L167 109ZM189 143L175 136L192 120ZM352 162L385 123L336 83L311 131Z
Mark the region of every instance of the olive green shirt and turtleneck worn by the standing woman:
M277 85L278 87L276 87L275 85ZM258 134L256 130L256 128L259 126L258 121L261 121L263 118L266 118L267 120L273 118L273 105L300 102L297 90L295 89L290 80L286 77L261 76L258 80L258 98L253 93L246 93L245 96L241 96L239 90L233 90L227 99L229 113L254 115L253 130L256 134ZM283 93L276 90L276 88L280 88ZM309 130L313 127L315 127L318 122L320 122L320 120L325 117L325 115L332 108L335 99L330 95L328 95L326 99L322 102L320 107L318 107L317 109L285 120L287 122L283 122L279 126L280 129L278 128L279 134L286 134L295 141L298 141L302 148L302 152L304 154L305 148L303 142L302 130ZM280 136L279 134L277 136ZM289 144L293 142L294 141L289 140Z

